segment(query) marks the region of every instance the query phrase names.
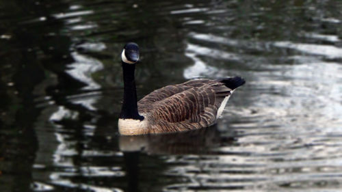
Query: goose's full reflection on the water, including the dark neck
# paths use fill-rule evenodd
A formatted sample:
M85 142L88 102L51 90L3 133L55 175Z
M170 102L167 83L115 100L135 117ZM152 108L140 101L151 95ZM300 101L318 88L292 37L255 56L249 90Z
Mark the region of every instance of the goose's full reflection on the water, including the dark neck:
M143 167L140 167L142 154L181 154L185 156L214 154L217 153L215 148L232 145L235 141L234 131L228 134L225 132L224 135L222 133L218 126L214 125L187 132L120 136L119 148L124 154L128 181L127 191L138 191L143 185L142 182L139 182L140 178L146 176Z

